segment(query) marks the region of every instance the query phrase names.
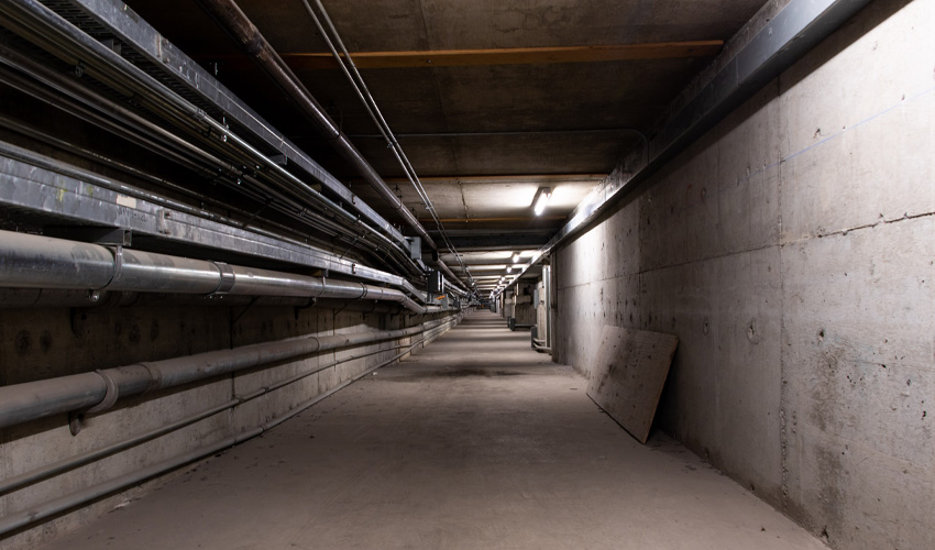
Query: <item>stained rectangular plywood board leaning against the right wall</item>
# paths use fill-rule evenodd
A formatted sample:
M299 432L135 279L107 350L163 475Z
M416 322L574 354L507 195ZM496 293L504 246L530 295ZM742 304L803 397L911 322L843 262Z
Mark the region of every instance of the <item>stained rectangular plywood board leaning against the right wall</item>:
M604 327L587 396L646 443L679 337Z

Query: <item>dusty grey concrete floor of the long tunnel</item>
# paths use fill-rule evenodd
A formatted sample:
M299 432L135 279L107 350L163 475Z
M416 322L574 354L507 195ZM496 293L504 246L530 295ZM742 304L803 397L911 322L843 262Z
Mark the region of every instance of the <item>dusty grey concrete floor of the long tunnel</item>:
M46 548L825 548L528 342L476 312Z

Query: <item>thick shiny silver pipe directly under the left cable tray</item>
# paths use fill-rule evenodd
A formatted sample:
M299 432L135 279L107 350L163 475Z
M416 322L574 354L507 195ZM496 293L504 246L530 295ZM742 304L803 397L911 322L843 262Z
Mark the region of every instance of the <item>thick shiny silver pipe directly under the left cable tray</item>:
M388 300L427 311L395 288L12 231L0 231L0 287Z

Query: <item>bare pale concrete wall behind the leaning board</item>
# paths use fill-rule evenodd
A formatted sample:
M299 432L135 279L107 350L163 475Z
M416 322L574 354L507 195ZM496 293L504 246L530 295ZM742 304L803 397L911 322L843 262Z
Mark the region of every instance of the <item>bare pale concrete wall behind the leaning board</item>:
M935 2L880 0L554 257L556 360L678 334L658 426L834 548L935 548Z

